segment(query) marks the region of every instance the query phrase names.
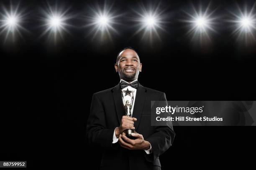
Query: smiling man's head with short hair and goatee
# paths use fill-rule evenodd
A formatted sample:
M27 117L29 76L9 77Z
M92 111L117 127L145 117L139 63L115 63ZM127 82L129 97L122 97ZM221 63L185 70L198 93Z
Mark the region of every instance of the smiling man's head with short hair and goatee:
M119 73L120 79L127 82L138 79L141 67L140 58L132 47L125 47L118 53L115 71Z

